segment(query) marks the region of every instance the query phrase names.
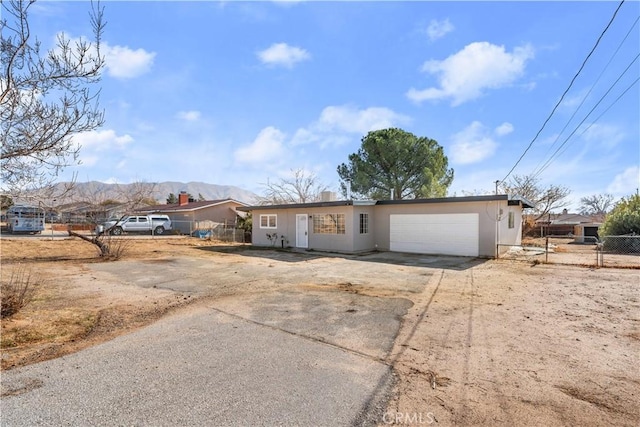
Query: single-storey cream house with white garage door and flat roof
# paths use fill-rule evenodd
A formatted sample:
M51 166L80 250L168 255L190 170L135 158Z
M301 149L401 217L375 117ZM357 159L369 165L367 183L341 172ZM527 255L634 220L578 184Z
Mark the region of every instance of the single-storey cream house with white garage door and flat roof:
M495 257L498 251L520 245L522 210L530 207L527 200L495 195L343 200L238 210L252 212L256 246Z

